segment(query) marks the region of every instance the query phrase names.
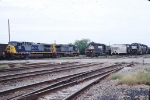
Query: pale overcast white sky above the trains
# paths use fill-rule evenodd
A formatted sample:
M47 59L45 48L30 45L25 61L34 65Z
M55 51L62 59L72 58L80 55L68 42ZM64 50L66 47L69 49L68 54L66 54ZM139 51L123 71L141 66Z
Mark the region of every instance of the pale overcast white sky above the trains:
M8 19L11 41L150 46L148 0L0 0L0 43L9 41Z

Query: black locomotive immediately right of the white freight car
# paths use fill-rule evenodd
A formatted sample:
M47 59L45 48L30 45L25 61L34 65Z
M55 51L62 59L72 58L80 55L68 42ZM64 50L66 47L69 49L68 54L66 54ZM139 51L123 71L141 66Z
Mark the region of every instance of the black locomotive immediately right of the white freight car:
M143 54L143 46L140 43L132 43L130 45L130 54L131 55L142 55Z

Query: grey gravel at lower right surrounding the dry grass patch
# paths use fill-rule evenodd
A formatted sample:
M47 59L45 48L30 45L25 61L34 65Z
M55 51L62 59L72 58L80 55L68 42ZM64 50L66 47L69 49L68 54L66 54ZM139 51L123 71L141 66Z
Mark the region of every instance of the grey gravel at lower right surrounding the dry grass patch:
M134 64L131 67L125 67L117 73L138 72L150 68L150 64ZM149 85L118 85L118 79L105 80L85 91L77 100L149 100Z

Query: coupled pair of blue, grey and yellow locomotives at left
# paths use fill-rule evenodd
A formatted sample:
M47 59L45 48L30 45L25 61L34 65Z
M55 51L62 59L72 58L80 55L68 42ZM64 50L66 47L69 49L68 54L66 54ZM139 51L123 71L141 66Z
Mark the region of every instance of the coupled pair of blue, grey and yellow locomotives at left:
M26 54L29 57L61 57L78 56L79 50L75 45L56 45L33 42L10 41L5 49L6 59L24 59Z

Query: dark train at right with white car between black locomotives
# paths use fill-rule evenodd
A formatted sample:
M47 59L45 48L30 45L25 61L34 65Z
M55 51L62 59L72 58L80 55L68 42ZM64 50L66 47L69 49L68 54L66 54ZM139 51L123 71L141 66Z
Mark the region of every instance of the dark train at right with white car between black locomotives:
M85 55L87 57L113 54L139 55L147 53L150 53L150 48L148 48L147 45L140 43L113 44L111 46L107 46L105 44L91 42L88 45L88 49L85 49Z

